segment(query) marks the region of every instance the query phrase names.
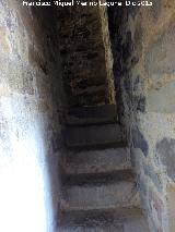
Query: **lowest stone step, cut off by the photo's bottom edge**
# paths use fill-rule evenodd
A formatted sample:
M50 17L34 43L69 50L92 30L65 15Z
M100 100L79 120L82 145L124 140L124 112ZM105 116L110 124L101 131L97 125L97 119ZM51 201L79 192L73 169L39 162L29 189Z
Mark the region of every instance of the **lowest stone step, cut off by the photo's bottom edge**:
M60 232L149 232L148 222L139 208L115 211L71 211L63 213Z

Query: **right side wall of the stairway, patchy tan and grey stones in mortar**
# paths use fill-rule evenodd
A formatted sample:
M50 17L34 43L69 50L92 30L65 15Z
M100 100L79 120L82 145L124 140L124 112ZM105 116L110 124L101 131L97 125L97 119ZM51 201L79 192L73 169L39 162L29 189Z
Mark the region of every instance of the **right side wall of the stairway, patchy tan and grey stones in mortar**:
M175 231L175 2L109 9L119 119L151 232Z

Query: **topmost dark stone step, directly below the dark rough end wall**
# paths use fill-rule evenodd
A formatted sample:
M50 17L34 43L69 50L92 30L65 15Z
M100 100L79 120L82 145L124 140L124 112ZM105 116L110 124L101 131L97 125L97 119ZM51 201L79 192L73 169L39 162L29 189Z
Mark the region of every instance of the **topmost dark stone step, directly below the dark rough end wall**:
M66 121L69 125L114 123L117 122L116 105L72 108Z

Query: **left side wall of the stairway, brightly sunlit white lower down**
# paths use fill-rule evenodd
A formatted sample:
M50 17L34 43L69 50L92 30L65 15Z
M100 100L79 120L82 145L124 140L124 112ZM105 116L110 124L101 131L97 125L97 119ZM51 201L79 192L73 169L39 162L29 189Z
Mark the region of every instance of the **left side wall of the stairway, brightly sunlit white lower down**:
M54 232L61 81L51 9L0 1L0 231Z

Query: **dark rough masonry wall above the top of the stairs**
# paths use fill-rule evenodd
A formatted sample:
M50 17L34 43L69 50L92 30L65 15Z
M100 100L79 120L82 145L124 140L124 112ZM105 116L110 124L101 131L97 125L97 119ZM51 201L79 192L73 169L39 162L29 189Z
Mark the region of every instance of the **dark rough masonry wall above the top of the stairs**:
M109 49L104 45L108 28L102 30L107 20L102 22L100 8L58 8L58 25L68 106L114 103L112 64L107 63ZM107 39L106 36L106 42Z

